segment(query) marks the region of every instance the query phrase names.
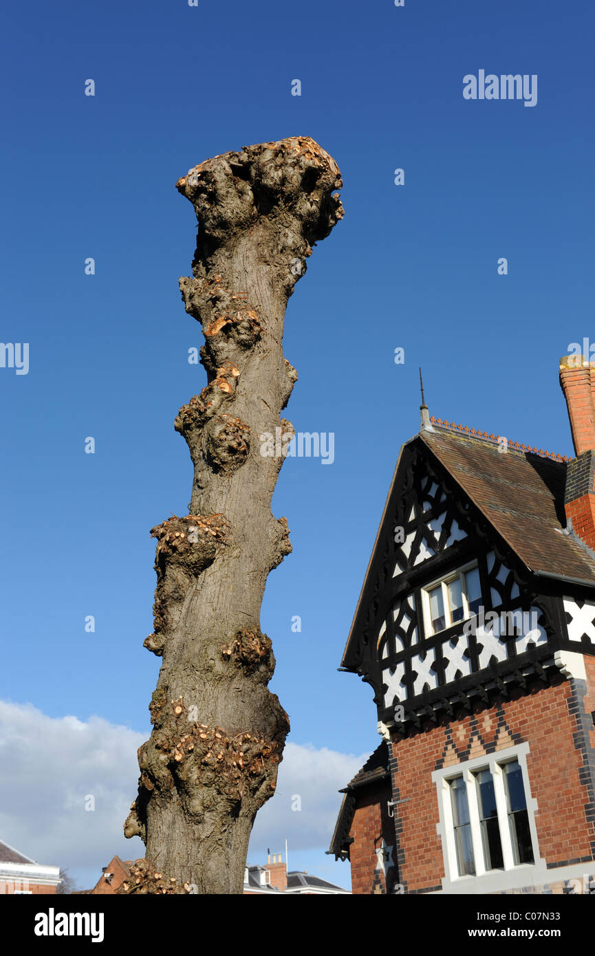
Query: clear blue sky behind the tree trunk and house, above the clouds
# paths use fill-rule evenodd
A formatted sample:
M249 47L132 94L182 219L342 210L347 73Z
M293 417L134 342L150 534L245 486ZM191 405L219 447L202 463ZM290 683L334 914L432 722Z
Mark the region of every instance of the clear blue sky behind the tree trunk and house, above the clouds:
M289 303L299 379L285 414L333 432L335 461L281 470L273 510L294 552L269 578L262 628L292 743L354 766L377 746L370 689L337 667L399 447L418 427L418 366L436 416L572 453L558 359L595 338L593 21L577 0L5 7L0 338L28 342L30 368L0 368L1 700L148 734L148 531L187 513L173 420L205 383L187 362L202 337L177 285L195 219L174 184L209 156L308 135L340 165L345 218ZM537 105L464 99L463 76L480 69L539 76ZM0 838L29 833L22 849L39 857L43 788L29 829L7 793ZM294 816L278 831L291 832L290 864L348 881ZM253 862L268 845L258 833ZM120 823L106 830L104 846L122 842ZM58 836L44 851L69 864ZM88 882L107 861L70 865Z

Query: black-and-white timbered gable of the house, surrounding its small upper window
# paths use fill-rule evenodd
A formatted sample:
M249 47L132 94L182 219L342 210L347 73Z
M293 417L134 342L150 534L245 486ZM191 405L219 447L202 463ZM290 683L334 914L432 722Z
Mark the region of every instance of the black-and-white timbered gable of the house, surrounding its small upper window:
M497 449L491 455L497 468ZM518 457L526 467L527 456ZM595 654L595 574L578 583L562 566L559 577L532 570L480 504L429 440L420 434L403 446L342 659L371 684L379 728L408 732L476 699L506 697L529 679L548 684L562 651ZM461 620L427 635L421 589L475 561L490 622L465 633ZM522 612L532 626L522 626ZM518 626L502 628L501 619Z

